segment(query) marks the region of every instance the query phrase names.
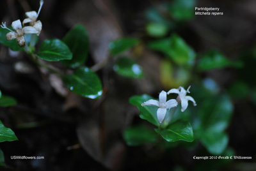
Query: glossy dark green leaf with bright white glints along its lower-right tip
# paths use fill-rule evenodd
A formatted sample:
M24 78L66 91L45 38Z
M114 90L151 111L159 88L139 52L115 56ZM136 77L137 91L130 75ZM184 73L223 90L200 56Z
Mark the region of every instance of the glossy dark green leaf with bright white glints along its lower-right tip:
M102 95L102 85L99 77L89 68L77 68L73 75L65 75L63 82L70 91L86 98L99 98Z

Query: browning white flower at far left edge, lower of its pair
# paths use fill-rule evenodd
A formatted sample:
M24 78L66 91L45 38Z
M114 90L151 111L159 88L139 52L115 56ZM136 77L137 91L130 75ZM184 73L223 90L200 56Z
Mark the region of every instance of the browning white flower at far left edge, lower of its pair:
M2 22L1 27L3 29L8 29L8 27L6 27L6 22ZM36 29L31 26L22 28L20 20L15 20L14 22L12 22L12 27L15 31L8 29L10 32L6 34L6 40L16 39L16 41L20 45L20 47L25 46L24 34L37 34L38 33L38 31L36 31Z

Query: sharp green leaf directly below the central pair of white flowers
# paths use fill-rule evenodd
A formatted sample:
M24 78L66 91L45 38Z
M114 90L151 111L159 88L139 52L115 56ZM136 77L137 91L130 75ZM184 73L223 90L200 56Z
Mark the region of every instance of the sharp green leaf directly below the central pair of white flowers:
M179 140L193 142L194 140L192 126L186 121L179 120L170 124L170 126L164 130L155 130L168 142L176 142Z

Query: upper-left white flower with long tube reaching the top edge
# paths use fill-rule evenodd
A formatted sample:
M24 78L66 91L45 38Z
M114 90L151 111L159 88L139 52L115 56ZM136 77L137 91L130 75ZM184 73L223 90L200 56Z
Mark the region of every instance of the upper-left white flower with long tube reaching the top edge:
M40 0L40 8L38 10L38 13L36 13L36 11L26 12L26 16L28 18L24 19L22 22L23 26L24 26L24 24L29 23L29 26L34 27L36 29L36 31L38 31L37 36L39 36L39 34L42 31L42 22L40 20L36 21L36 19L41 11L43 4L44 4L44 1Z

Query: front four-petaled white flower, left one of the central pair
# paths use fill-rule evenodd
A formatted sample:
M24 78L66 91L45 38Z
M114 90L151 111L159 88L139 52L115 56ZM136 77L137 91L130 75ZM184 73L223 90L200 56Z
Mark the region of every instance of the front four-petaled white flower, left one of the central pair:
M159 101L157 100L148 100L141 104L141 106L150 105L159 107L157 109L157 119L159 123L162 123L164 120L164 117L166 115L167 108L177 107L178 102L175 99L166 101L166 92L161 91L159 94Z

